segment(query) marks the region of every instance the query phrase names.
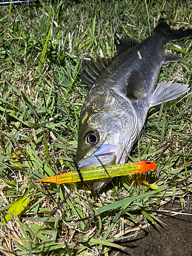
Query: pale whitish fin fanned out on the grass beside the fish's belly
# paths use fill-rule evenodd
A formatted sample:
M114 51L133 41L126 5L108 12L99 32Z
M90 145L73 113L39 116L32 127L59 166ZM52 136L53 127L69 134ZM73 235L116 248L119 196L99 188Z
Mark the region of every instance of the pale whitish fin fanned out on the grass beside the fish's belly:
M189 91L188 84L181 84L178 82L168 81L161 82L156 87L151 95L150 106L156 106L163 101L169 101L178 98L182 94Z

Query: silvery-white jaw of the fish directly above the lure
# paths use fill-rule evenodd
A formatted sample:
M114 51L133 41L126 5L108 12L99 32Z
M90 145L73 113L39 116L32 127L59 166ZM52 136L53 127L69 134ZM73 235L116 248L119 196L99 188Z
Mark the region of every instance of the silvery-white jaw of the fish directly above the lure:
M125 152L124 145L103 144L98 151L78 162L79 169L118 164Z

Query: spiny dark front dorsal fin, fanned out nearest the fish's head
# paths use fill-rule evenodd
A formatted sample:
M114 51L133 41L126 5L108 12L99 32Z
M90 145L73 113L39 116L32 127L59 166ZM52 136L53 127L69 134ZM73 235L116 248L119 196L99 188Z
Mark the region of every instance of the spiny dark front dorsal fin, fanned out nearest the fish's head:
M83 71L80 73L80 79L83 83L87 85L90 89L94 82L96 81L97 77L108 68L109 64L111 63L110 58L98 58L96 60L90 59L86 60L83 59L82 68Z

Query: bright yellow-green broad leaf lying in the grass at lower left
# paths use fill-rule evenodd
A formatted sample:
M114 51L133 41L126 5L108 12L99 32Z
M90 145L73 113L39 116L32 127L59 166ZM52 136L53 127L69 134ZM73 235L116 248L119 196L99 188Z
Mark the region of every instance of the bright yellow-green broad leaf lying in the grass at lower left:
M24 208L28 205L30 200L29 194L25 193L21 198L14 201L8 209L7 214L5 215L4 222L7 222L11 220L10 214L13 217L19 216L21 212L24 210Z

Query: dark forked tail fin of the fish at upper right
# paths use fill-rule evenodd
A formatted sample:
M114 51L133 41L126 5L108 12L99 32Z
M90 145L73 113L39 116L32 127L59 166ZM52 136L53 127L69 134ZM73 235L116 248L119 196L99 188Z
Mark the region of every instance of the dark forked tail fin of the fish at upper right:
M157 27L154 29L153 34L163 34L162 37L164 38L165 44L166 42L182 39L184 37L192 35L192 30L183 30L183 28L180 28L178 30L170 29L170 26L166 24L165 20L163 18L160 18Z

